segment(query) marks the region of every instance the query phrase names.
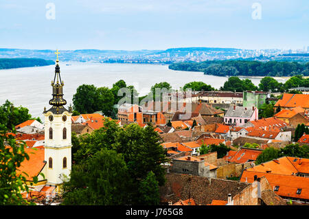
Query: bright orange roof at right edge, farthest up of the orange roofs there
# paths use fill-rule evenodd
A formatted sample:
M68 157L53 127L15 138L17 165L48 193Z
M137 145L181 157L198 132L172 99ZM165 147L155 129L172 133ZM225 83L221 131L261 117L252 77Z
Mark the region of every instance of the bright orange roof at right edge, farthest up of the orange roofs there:
M289 108L300 106L302 108L309 108L309 95L284 93L282 99L278 100L275 106Z

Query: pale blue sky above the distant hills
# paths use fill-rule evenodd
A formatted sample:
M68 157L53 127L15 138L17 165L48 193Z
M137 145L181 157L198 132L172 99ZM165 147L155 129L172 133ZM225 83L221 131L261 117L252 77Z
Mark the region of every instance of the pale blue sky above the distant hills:
M304 49L308 0L1 0L0 48Z

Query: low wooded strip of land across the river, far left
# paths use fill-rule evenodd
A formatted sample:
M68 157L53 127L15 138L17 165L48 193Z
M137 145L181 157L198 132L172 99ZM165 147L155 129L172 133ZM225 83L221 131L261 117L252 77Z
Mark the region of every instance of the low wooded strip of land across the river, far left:
M0 69L15 69L54 64L55 62L52 60L45 60L41 58L0 58Z

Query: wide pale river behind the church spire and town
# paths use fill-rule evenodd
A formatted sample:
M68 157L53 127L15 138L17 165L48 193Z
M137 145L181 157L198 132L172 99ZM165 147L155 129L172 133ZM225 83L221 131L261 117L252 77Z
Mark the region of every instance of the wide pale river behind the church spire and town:
M29 108L33 117L41 117L43 109L48 109L52 99L51 82L54 79L54 65L0 70L0 105L10 100L14 106ZM133 85L139 95L146 95L158 82L168 82L172 89L179 89L187 82L202 81L216 89L223 86L226 77L207 76L202 72L174 71L168 65L141 64L93 64L60 62L60 75L65 83L63 88L67 108L72 104L73 94L81 84L95 87L113 87L118 80ZM258 85L261 78L249 78ZM286 78L277 79L285 82Z

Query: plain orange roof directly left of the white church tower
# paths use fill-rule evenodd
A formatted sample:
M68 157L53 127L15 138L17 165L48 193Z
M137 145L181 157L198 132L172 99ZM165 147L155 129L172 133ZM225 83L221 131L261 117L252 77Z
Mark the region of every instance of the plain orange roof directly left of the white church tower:
M20 174L26 172L29 176L25 176L27 181L32 181L32 176L38 176L38 174L43 169L44 161L44 150L38 149L34 150L32 148L25 148L25 152L29 155L29 160L25 159L21 166L18 168L17 172Z

